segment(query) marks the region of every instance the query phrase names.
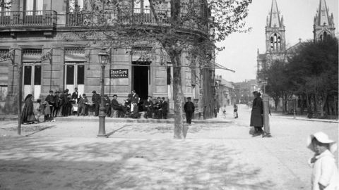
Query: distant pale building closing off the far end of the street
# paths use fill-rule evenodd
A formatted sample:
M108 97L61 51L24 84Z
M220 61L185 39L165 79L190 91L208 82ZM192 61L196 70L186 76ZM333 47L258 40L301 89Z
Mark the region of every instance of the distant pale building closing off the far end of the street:
M235 102L249 103L253 100L252 92L256 90L256 80L245 80L244 82L234 83Z

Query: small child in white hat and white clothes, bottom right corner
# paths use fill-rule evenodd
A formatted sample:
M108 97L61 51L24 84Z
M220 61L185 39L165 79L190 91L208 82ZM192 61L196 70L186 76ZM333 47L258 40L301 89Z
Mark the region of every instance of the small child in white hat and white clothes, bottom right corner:
M328 139L323 132L316 132L309 136L307 144L307 148L315 153L309 159L309 165L313 167L312 190L339 190L338 168L333 156L337 150L335 141Z

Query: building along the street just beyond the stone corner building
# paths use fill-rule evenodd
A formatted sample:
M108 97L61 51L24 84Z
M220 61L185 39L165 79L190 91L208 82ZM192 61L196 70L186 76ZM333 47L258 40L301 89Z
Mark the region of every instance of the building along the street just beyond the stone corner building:
M220 107L231 106L236 100L233 83L222 79L221 75L215 77L215 82L217 82L216 98Z

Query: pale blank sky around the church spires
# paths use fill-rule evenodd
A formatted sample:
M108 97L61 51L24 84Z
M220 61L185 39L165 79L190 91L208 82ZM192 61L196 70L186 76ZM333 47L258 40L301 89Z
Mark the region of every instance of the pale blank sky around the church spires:
M285 23L287 47L297 44L299 38L302 41L313 39L313 21L319 0L277 0L278 9L283 15ZM249 15L246 18L247 27L252 27L249 33L231 34L221 44L225 50L218 53L216 63L226 68L235 70L230 72L217 69L216 75L232 82L242 82L245 79L256 78L256 52L266 51L265 26L266 16L270 11L272 0L253 0L249 5ZM326 0L333 13L335 22L335 34L338 35L338 0Z

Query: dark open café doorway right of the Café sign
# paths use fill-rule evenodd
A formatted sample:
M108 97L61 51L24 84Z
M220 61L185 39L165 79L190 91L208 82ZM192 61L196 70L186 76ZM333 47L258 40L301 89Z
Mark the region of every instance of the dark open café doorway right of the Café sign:
M140 101L147 99L148 97L148 85L149 85L149 71L150 62L132 62L132 75L133 75L133 84L132 89L136 91L136 94L139 95Z

